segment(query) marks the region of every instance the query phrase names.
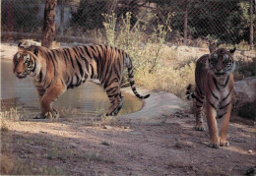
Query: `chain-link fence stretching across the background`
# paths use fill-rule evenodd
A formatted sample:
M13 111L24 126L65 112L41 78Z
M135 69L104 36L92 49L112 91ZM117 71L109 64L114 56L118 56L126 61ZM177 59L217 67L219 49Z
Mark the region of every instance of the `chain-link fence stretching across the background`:
M2 40L41 38L43 0L2 0ZM94 42L103 32L103 14L114 13L116 30L121 17L131 12L131 29L145 32L164 24L171 15L168 42L200 45L202 40L227 44L255 42L254 0L58 0L55 8L56 39ZM254 44L255 45L255 44Z

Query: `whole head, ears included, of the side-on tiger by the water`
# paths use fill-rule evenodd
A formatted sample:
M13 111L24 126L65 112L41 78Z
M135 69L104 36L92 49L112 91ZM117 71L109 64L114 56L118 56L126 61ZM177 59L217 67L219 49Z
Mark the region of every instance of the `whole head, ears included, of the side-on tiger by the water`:
M37 61L38 48L36 46L25 46L20 42L18 44L18 52L14 55L14 74L19 78L26 78L28 75L32 77L36 75L36 71L40 63Z

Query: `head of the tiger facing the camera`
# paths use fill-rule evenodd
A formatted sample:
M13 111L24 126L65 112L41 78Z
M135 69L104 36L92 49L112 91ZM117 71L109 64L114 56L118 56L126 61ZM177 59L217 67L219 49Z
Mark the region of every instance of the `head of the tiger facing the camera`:
M206 62L206 67L215 77L224 77L233 73L235 62L233 53L235 48L229 51L220 48L210 54L210 58Z

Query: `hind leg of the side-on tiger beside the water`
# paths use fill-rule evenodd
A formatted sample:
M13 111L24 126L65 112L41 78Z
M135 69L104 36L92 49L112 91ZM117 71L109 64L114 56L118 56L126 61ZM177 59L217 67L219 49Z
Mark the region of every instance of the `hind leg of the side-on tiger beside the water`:
M124 102L124 97L120 91L120 83L112 83L110 86L105 88L105 91L111 103L106 116L115 116L122 108Z

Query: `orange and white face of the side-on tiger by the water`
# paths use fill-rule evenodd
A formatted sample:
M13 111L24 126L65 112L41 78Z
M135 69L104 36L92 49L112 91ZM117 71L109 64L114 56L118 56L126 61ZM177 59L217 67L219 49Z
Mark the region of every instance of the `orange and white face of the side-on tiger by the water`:
M28 51L18 51L14 55L14 74L19 79L24 79L35 70L35 60Z

